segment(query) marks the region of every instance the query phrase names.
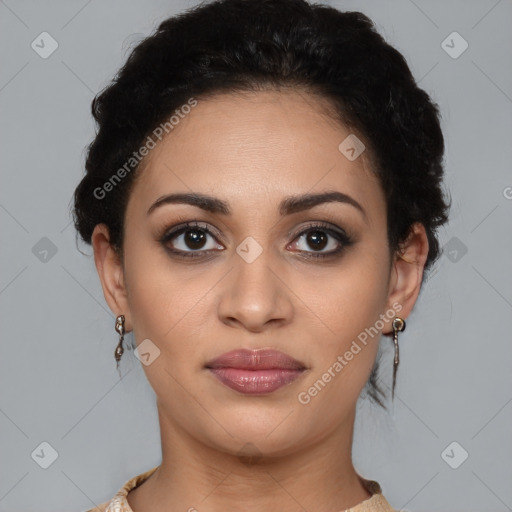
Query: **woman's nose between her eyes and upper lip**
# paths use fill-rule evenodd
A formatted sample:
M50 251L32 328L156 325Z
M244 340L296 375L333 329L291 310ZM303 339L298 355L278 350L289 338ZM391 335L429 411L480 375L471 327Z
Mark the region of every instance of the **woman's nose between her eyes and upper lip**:
M286 272L263 250L253 261L234 255L218 314L230 326L251 332L285 325L293 317L293 293L286 282ZM243 255L243 253L241 253Z

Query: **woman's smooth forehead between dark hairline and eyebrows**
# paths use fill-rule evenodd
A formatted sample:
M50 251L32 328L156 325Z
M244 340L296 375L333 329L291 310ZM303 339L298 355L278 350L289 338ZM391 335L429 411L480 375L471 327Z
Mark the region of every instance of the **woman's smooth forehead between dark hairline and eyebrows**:
M383 195L367 155L350 160L339 149L353 136L325 100L297 91L198 98L145 158L129 208L147 210L162 194L180 191L215 195L233 210L261 210L284 195L323 189L370 208Z

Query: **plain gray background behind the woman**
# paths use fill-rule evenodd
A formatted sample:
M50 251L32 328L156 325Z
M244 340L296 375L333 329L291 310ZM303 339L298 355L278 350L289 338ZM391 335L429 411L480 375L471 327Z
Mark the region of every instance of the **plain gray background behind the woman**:
M130 44L196 3L0 2L0 511L85 510L160 462L153 391L132 351L115 370L114 316L69 206L94 94ZM395 402L359 403L356 468L396 508L512 510L512 2L327 3L368 14L439 103L453 196L400 337ZM46 59L31 47L43 31L58 42ZM469 44L457 58L441 44L453 31ZM58 453L47 469L31 456L42 442Z

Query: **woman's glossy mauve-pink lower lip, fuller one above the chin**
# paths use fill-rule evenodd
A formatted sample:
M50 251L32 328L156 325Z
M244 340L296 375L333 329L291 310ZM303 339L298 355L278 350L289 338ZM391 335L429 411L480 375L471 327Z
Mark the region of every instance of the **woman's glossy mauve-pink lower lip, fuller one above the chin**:
M223 384L246 394L272 393L300 377L303 370L272 368L241 370L240 368L209 368Z

